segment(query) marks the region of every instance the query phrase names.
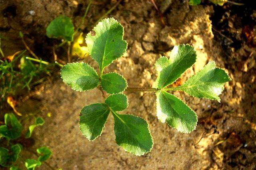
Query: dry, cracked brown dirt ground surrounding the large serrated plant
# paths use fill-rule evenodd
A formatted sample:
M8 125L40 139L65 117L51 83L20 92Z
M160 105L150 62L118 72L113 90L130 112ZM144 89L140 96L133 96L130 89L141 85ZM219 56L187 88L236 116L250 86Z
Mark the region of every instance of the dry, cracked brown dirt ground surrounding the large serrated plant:
M85 4L82 0L76 0L77 3L73 0L0 2L1 10L11 6L16 11L15 14L9 11L9 16L1 16L1 32L6 36L12 34L12 37L18 37L18 31L13 27L26 30L31 41L30 46L38 56L46 60L52 58L52 54L48 52L51 42L45 37L46 26L60 14L70 16L75 25L78 25L88 3ZM95 2L82 31L88 32L93 23L115 2ZM156 4L159 5L160 2L161 0L156 1ZM128 42L128 50L124 57L111 64L106 72L116 71L122 74L130 87L153 87L156 79L154 62L160 56L168 55L177 44L194 46L198 55L196 64L182 75L181 83L202 69L210 60L225 68L232 81L225 84L225 90L220 96L221 103L174 92L196 111L196 130L190 134L182 134L159 122L156 118L156 97L153 93L125 92L128 95L129 107L123 113L146 119L154 138L152 151L138 157L117 146L111 115L103 134L89 142L79 130L78 115L83 106L102 102L102 95L99 90L82 93L71 90L62 82L56 71L50 83L35 88L33 95L18 107L19 111L24 113L40 110L39 114L46 120L44 126L35 130L32 136L34 144L28 149L35 150L38 146L50 147L53 156L48 163L55 169L63 170L255 169L256 50L254 44L248 44L243 39L244 25L236 14L224 13L226 18L223 22L228 24L217 23L216 27L213 26L212 18L217 20L215 16L220 15L219 11L216 11L218 8L221 7L210 3L189 6L188 0L173 0L172 6L164 13L166 26L160 22L152 3L146 0L124 0L109 15L124 26L124 39ZM230 5L226 8L231 9ZM35 12L33 15L29 12L31 10ZM252 15L255 15L255 11ZM223 28L230 34L224 35ZM241 45L235 46L236 41ZM6 53L14 53L15 48L22 48L22 45L14 44L11 48L5 46L4 50ZM85 61L96 68L96 63L91 58L86 58ZM52 115L50 118L46 116L48 112ZM24 152L23 155L26 157L30 153ZM49 168L43 164L38 169Z

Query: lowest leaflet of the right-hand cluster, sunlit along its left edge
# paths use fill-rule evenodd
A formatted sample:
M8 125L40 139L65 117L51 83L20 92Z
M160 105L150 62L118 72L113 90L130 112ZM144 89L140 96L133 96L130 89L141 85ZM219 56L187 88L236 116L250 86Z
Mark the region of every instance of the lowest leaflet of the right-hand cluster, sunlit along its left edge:
M165 91L156 92L156 116L183 133L195 130L197 116L182 100Z

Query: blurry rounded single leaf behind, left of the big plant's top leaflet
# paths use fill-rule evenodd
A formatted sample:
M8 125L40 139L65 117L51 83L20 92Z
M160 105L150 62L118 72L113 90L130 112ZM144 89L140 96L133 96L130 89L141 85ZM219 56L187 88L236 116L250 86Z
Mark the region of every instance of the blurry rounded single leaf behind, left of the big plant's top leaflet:
M62 38L66 41L73 41L74 25L72 20L66 16L58 16L46 28L46 35L49 38Z

